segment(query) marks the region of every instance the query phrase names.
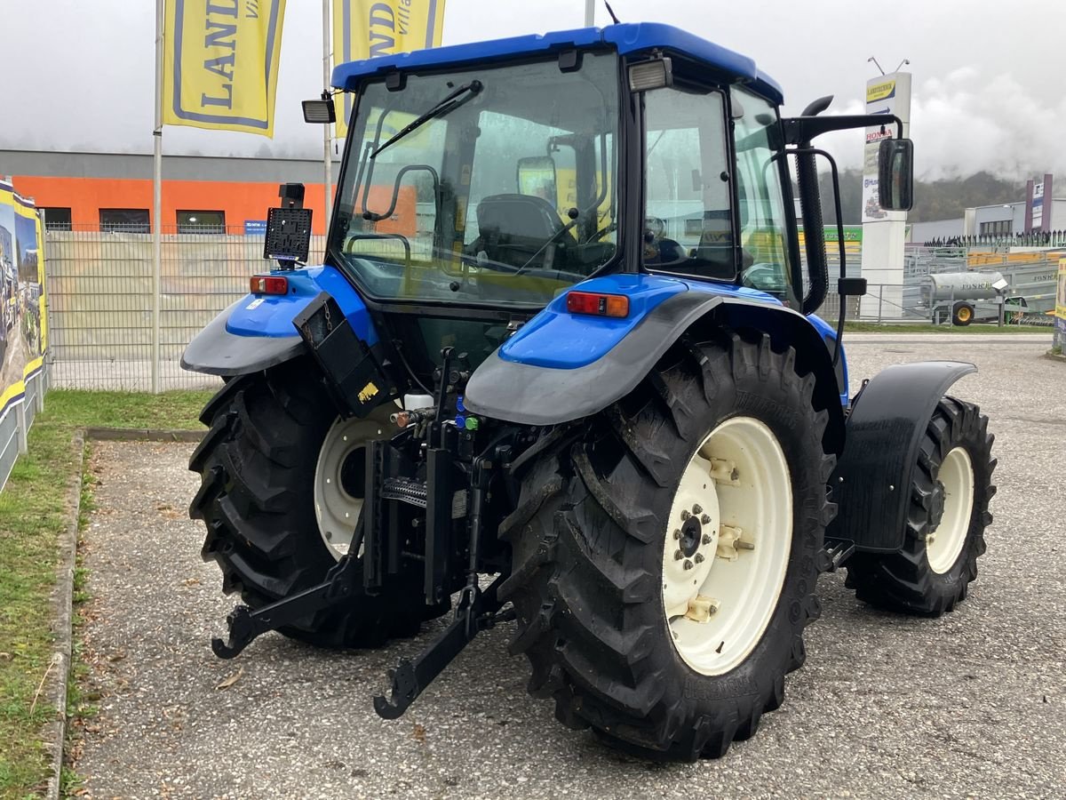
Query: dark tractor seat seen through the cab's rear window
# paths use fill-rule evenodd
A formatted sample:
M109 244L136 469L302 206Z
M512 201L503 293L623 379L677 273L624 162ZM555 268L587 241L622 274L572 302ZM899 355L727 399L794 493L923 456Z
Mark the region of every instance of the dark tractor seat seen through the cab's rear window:
M531 194L494 194L478 204L478 239L473 254L484 252L490 261L521 267L558 237L554 246L544 249L533 267L550 268L561 247L576 245L572 236L559 236L563 222L555 207Z

